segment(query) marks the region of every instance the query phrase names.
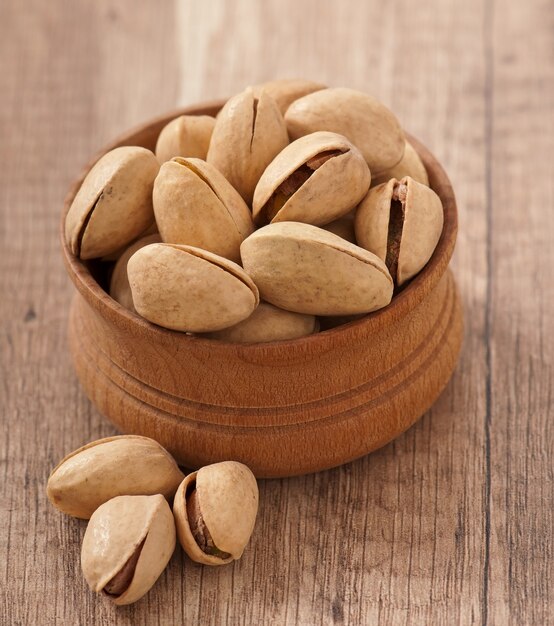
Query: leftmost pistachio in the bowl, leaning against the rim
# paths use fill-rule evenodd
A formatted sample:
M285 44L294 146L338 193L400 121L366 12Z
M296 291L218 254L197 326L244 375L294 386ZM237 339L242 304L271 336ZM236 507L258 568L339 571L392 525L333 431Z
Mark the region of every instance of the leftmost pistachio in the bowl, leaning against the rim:
M115 148L87 174L65 218L65 239L81 259L119 250L154 220L152 187L159 163L150 150Z

